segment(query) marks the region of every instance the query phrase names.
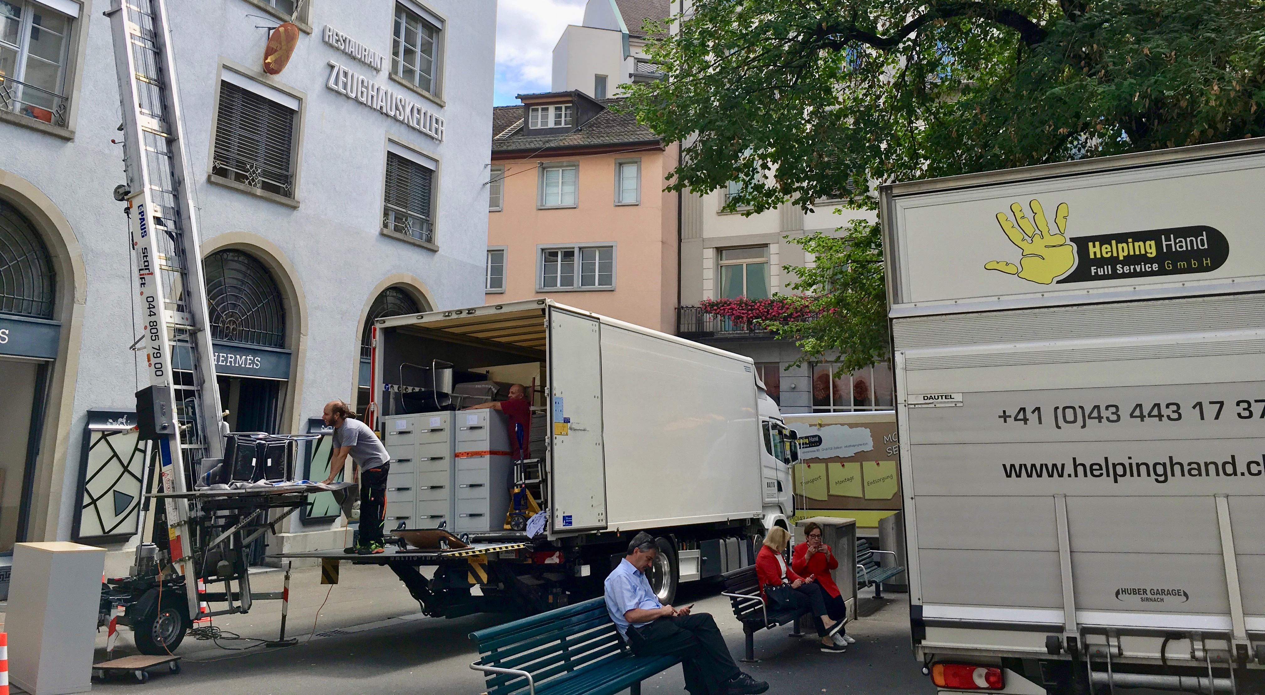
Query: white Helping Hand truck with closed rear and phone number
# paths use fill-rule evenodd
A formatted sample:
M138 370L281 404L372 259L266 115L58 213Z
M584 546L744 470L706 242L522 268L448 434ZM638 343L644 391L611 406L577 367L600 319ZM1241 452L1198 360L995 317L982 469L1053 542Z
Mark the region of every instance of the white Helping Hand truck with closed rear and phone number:
M1256 691L1262 200L1259 139L883 188L941 691Z

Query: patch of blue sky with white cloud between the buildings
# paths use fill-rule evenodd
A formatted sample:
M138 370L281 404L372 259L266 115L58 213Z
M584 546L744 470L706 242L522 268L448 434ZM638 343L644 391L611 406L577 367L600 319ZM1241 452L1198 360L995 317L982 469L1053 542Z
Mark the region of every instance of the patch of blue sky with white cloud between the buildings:
M517 104L517 94L549 91L553 47L568 24L584 19L586 0L498 0L493 104Z

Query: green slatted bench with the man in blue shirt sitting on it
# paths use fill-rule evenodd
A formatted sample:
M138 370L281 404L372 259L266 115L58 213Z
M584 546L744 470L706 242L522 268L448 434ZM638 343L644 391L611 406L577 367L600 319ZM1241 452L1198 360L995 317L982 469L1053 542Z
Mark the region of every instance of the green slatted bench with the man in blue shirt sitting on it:
M641 681L681 660L639 657L591 599L471 633L482 655L471 668L487 679L486 695L641 694Z

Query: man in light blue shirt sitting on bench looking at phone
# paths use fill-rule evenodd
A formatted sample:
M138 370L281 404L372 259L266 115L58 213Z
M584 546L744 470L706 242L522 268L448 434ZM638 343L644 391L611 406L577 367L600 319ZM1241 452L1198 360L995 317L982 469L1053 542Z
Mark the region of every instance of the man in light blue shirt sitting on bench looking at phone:
M734 663L716 620L689 608L663 605L645 579L659 546L641 532L629 552L606 577L606 610L620 634L638 656L678 656L692 695L759 694L769 684L756 681Z

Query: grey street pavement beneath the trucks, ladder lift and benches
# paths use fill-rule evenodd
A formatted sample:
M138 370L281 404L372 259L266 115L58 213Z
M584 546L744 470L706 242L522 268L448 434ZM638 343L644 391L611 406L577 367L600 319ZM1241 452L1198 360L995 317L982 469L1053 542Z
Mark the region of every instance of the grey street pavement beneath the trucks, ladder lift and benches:
M261 591L281 588L281 574L253 577ZM319 695L347 692L477 695L483 679L469 670L477 658L471 632L503 622L498 615L467 615L457 619L426 618L409 591L386 567L343 566L340 584L320 585L315 567L296 570L291 580L287 636L299 644L268 650L248 647L252 641L187 638L176 651L185 657L180 674L154 670L147 684L133 679L95 682L94 690L109 694L164 695ZM934 694L929 679L910 651L907 599L887 594L873 599L864 590L861 618L849 626L858 643L845 655L817 650L813 637L788 638L788 628L755 636L758 663L740 666L769 692L811 695L856 692L865 695ZM730 652L743 655L741 626L730 613L729 599L715 585L686 585L678 605L694 604L694 612L716 617ZM318 619L318 610L320 618ZM216 618L216 627L244 638L275 639L280 605L261 601L247 615ZM315 634L312 624L315 622ZM130 631L114 657L135 653ZM97 637L97 661L105 660L105 631ZM223 647L223 648L221 648ZM248 647L244 651L240 647ZM643 684L643 692L684 692L681 668L673 667Z

